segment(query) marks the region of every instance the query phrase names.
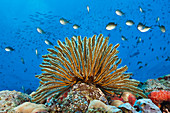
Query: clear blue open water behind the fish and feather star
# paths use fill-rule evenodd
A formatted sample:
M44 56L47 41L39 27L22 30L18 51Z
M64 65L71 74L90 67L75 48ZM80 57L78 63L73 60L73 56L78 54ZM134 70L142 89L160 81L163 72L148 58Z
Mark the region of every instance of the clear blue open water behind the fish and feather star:
M125 15L116 15L117 9ZM73 35L91 37L102 33L110 37L110 43L120 43L120 66L127 65L128 72L134 74L132 78L141 82L170 74L169 17L169 0L0 0L0 90L35 90L39 85L35 75L41 73L41 56L53 47L44 41L48 39L56 45L58 39L64 41ZM60 18L70 23L62 25ZM129 27L126 20L135 24ZM117 27L106 30L109 22L115 22ZM140 22L152 29L140 32ZM74 24L80 28L73 29ZM165 26L166 32L162 33L158 25ZM38 33L37 27L46 33ZM123 41L121 36L128 40ZM137 43L139 37L142 41ZM5 51L8 46L14 51ZM139 61L142 63L138 64Z

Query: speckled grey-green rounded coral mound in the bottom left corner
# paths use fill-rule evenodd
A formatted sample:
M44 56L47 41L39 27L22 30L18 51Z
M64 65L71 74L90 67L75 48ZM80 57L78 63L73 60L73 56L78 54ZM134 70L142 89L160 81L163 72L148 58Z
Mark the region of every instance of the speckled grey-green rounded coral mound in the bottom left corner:
M17 91L0 91L0 112L8 112L10 109L30 101L30 97L27 94Z

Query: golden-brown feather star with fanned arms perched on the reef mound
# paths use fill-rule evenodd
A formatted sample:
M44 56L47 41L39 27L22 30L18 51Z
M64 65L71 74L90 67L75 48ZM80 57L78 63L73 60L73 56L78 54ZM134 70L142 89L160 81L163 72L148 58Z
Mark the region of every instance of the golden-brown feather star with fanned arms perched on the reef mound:
M130 91L146 97L137 86L139 81L129 79L131 73L124 73L128 67L117 68L121 59L116 55L119 44L108 45L109 37L100 34L82 40L65 38L58 40L58 47L47 49L49 54L42 56L40 65L43 73L36 75L40 86L33 94L32 101L41 102L53 94L60 95L78 82L96 85L103 92Z

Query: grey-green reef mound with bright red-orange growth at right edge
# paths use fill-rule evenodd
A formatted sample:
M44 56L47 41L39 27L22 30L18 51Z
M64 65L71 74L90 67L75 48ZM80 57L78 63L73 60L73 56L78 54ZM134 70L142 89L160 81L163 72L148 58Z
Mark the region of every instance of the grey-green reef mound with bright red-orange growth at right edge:
M170 102L170 74L164 75L157 79L148 79L141 84L141 89L144 90L148 98L152 100L161 111L170 111L168 103Z

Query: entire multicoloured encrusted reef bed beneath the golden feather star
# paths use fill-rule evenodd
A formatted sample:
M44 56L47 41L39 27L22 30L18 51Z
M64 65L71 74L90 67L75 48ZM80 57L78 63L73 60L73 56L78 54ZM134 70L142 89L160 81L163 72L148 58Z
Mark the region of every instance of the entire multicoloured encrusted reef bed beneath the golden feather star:
M0 91L0 113L169 113L170 75L141 83L148 98L131 92L104 94L94 85L79 83L43 104L31 102L31 94Z

